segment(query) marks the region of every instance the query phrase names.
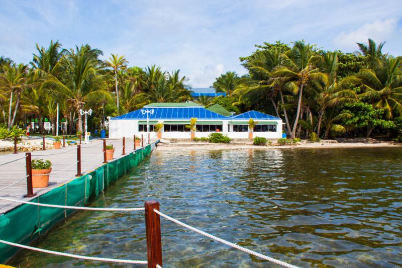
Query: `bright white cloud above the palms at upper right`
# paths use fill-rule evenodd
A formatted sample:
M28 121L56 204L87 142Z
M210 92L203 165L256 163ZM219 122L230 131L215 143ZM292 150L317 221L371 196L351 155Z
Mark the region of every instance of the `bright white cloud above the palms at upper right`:
M367 42L368 38L382 42L396 34L397 22L396 19L376 20L356 30L338 34L334 42L342 49L356 48L356 42Z

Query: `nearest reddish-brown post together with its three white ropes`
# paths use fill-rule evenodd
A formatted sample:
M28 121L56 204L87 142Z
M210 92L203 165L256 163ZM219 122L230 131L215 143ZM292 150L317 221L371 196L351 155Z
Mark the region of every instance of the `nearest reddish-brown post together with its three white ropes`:
M165 218L166 220L172 221L184 228L187 228L193 232L199 233L204 235L208 238L211 238L215 241L223 243L225 245L231 246L248 254L254 255L260 259L264 259L270 261L272 263L281 265L283 267L288 268L298 268L298 266L289 264L287 262L269 257L267 255L258 253L256 251L250 250L243 246L239 246L235 243L229 242L225 239L219 238L215 235L209 234L204 232L200 229L192 227L188 224L185 224L177 219L174 219L162 212L160 212L159 202L157 201L146 201L144 204L144 208L92 208L92 207L73 207L73 206L60 206L60 205L51 205L51 204L42 204L42 203L35 203L35 202L27 202L9 198L0 197L0 200L6 200L11 202L18 202L33 206L41 206L41 207L51 207L51 208L63 208L63 209L79 209L79 210L94 210L94 211L119 211L119 212L132 212L132 211L145 211L145 227L146 227L146 239L147 239L147 260L133 260L133 259L115 259L115 258L101 258L101 257L91 257L91 256L83 256L83 255L76 255L70 254L65 252L58 252L38 247L27 246L23 244L18 244L14 242L9 242L5 240L0 240L0 243L8 244L11 246L17 246L29 250L67 256L77 259L87 259L87 260L97 260L97 261L105 261L105 262L120 262L120 263L135 263L135 264L148 264L148 268L161 268L162 267L162 242L161 242L161 229L160 229L160 217Z

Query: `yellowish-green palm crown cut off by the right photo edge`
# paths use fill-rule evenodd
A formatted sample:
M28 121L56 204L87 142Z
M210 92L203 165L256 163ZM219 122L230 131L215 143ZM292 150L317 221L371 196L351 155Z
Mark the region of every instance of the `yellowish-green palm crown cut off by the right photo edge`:
M364 86L359 97L368 99L376 109L385 111L385 118L402 115L401 58L386 57L373 69L363 69L357 77Z

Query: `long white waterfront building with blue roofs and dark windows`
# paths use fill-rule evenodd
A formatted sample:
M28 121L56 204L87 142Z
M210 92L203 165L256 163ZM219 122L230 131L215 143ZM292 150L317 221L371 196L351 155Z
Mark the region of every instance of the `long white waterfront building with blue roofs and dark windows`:
M247 139L249 133L254 137L278 139L282 137L280 118L249 111L240 115L224 116L195 103L152 103L143 109L110 118L109 137L133 137L148 135L156 138L154 125L163 124L161 137L166 139L189 139L190 130L186 127L191 118L197 118L195 137L208 137L212 132L222 132L232 139ZM256 126L249 129L248 121L253 119Z

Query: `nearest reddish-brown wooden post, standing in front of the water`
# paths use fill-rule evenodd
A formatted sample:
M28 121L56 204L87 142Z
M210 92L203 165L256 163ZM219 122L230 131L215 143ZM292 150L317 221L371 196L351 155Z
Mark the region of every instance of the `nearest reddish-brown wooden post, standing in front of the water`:
M147 230L148 268L162 266L162 242L160 236L160 217L154 212L159 211L159 202L145 202L145 227Z

